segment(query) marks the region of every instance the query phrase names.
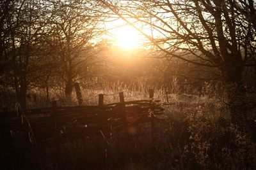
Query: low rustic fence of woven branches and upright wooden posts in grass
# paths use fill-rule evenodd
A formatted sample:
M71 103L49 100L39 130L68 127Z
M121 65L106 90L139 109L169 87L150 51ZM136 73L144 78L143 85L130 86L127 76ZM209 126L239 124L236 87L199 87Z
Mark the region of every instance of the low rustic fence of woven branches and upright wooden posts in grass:
M2 142L12 140L12 134L17 132L28 134L35 145L65 136L69 140L90 138L94 134L111 138L118 131L143 122L151 123L154 138L154 120L164 111L159 101L153 100L154 91L149 90L148 100L125 101L124 92L119 97L119 103L104 104L104 95L99 94L98 106L57 106L52 101L52 108L4 110L0 122Z

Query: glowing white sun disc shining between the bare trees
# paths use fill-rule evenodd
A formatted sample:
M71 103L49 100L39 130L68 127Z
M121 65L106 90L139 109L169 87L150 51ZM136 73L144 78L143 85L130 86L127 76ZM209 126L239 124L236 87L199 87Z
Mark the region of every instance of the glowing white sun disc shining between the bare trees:
M139 32L129 25L116 29L114 38L116 46L125 50L138 48L141 43Z

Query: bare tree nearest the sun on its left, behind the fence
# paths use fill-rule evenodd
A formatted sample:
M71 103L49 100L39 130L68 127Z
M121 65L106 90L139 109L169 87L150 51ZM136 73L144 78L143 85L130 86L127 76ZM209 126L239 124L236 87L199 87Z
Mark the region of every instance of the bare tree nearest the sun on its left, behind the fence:
M74 82L86 74L88 64L99 49L93 45L100 34L97 6L82 1L51 1L51 21L47 42L54 48L58 73L71 100ZM92 10L93 9L93 10Z

